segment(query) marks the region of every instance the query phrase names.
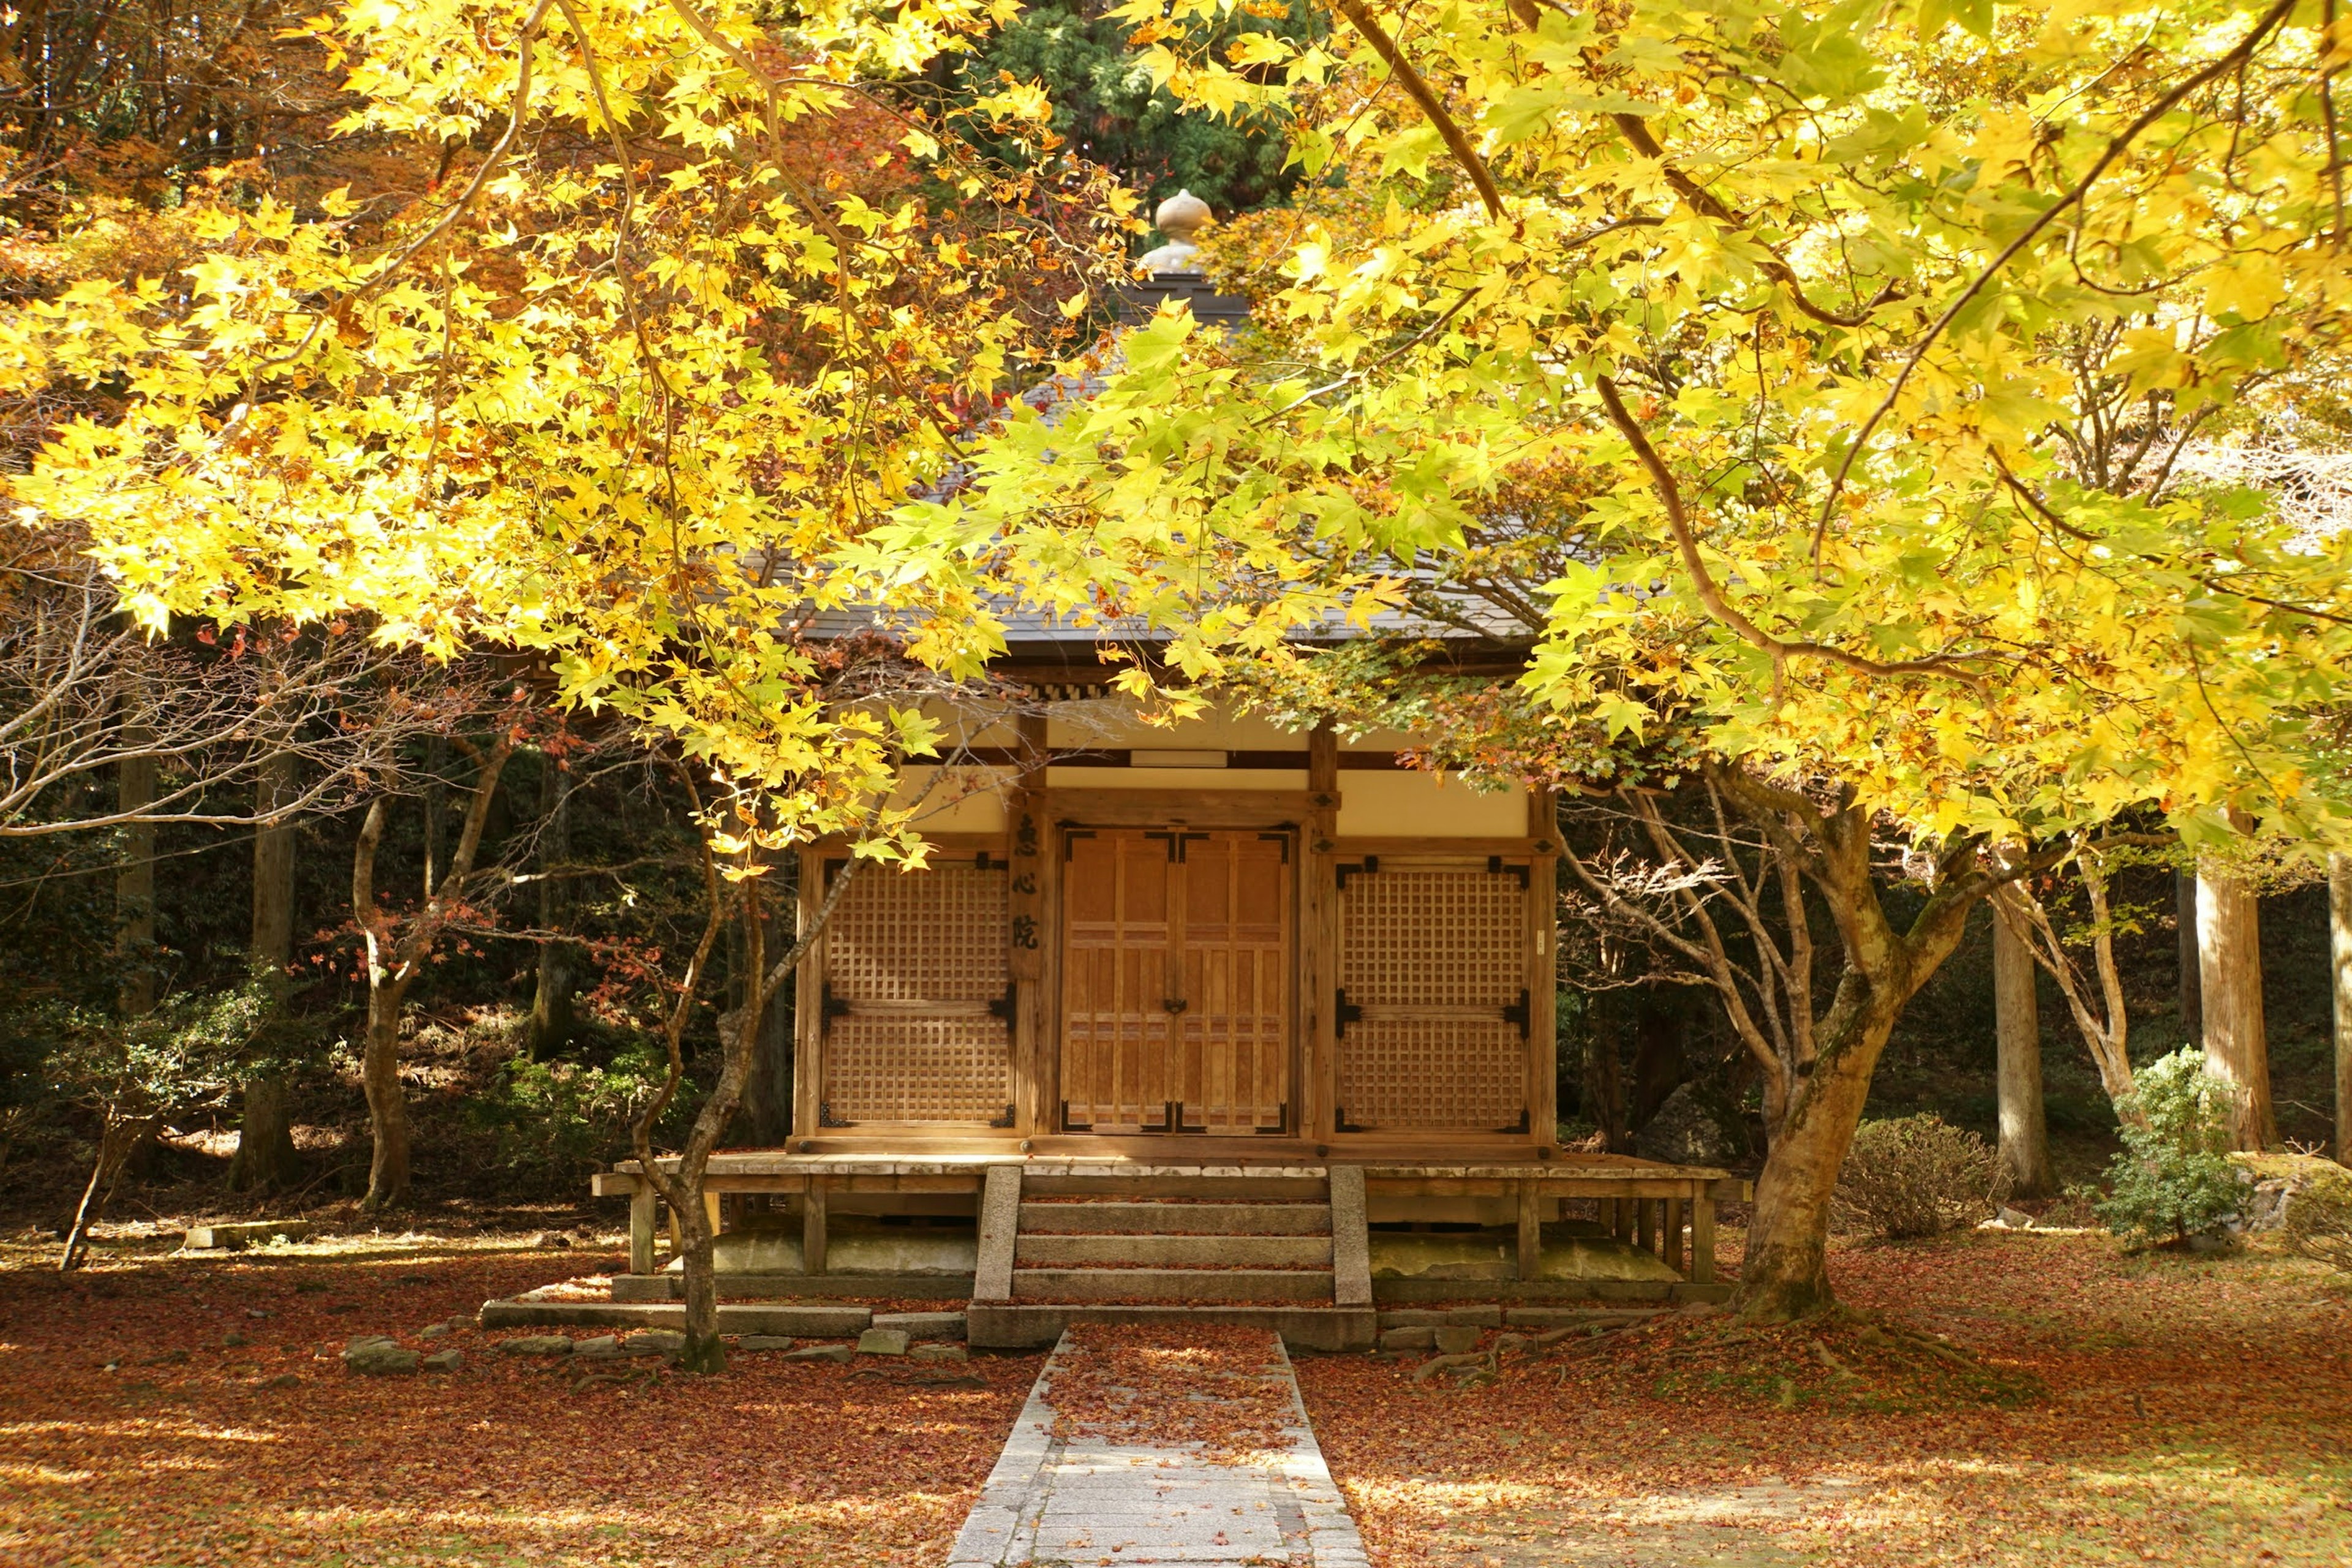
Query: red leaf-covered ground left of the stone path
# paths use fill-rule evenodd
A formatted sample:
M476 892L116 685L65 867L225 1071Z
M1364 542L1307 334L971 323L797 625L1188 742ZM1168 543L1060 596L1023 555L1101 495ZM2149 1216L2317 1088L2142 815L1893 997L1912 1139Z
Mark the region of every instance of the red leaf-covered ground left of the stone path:
M433 1342L466 1352L459 1373L336 1359L619 1262L412 1244L59 1279L49 1253L0 1258L0 1561L943 1561L1037 1356L927 1382L938 1368L760 1354L581 1392L576 1368L492 1354L477 1331Z

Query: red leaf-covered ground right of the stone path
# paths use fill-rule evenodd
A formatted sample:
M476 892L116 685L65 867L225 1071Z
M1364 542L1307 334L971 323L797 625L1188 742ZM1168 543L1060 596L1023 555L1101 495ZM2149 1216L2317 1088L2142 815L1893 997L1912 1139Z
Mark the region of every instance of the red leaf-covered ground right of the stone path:
M1378 1568L2352 1566L2340 1276L2096 1234L1832 1269L1825 1328L1675 1314L1298 1380Z

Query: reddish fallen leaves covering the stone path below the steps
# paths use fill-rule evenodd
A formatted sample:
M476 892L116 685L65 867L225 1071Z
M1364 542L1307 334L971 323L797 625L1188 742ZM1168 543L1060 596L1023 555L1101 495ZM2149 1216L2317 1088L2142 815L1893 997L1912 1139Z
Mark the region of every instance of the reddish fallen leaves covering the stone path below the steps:
M1197 1443L1207 1460L1289 1448L1289 1382L1265 1328L1077 1324L1054 1361L1054 1434Z

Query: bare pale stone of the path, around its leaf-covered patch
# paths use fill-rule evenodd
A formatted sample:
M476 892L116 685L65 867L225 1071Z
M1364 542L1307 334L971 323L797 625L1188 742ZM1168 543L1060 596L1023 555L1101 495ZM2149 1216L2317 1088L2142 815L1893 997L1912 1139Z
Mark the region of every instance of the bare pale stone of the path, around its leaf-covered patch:
M1315 1446L1291 1361L1279 1335L1265 1338L1263 1375L1279 1382L1291 1410L1287 1446L1228 1460L1200 1443L1056 1436L1054 1378L1070 1354L1063 1333L948 1568L1364 1568L1364 1542Z

